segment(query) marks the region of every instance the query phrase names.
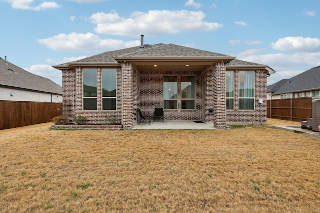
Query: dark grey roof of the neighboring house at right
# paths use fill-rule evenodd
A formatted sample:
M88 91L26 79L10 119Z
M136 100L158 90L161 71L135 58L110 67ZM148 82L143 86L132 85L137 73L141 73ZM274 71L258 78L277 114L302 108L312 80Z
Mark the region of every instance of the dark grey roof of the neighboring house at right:
M312 91L320 89L320 66L313 67L305 72L302 72L290 79L286 80L281 87L279 87L273 95L290 93L290 92L302 92Z

